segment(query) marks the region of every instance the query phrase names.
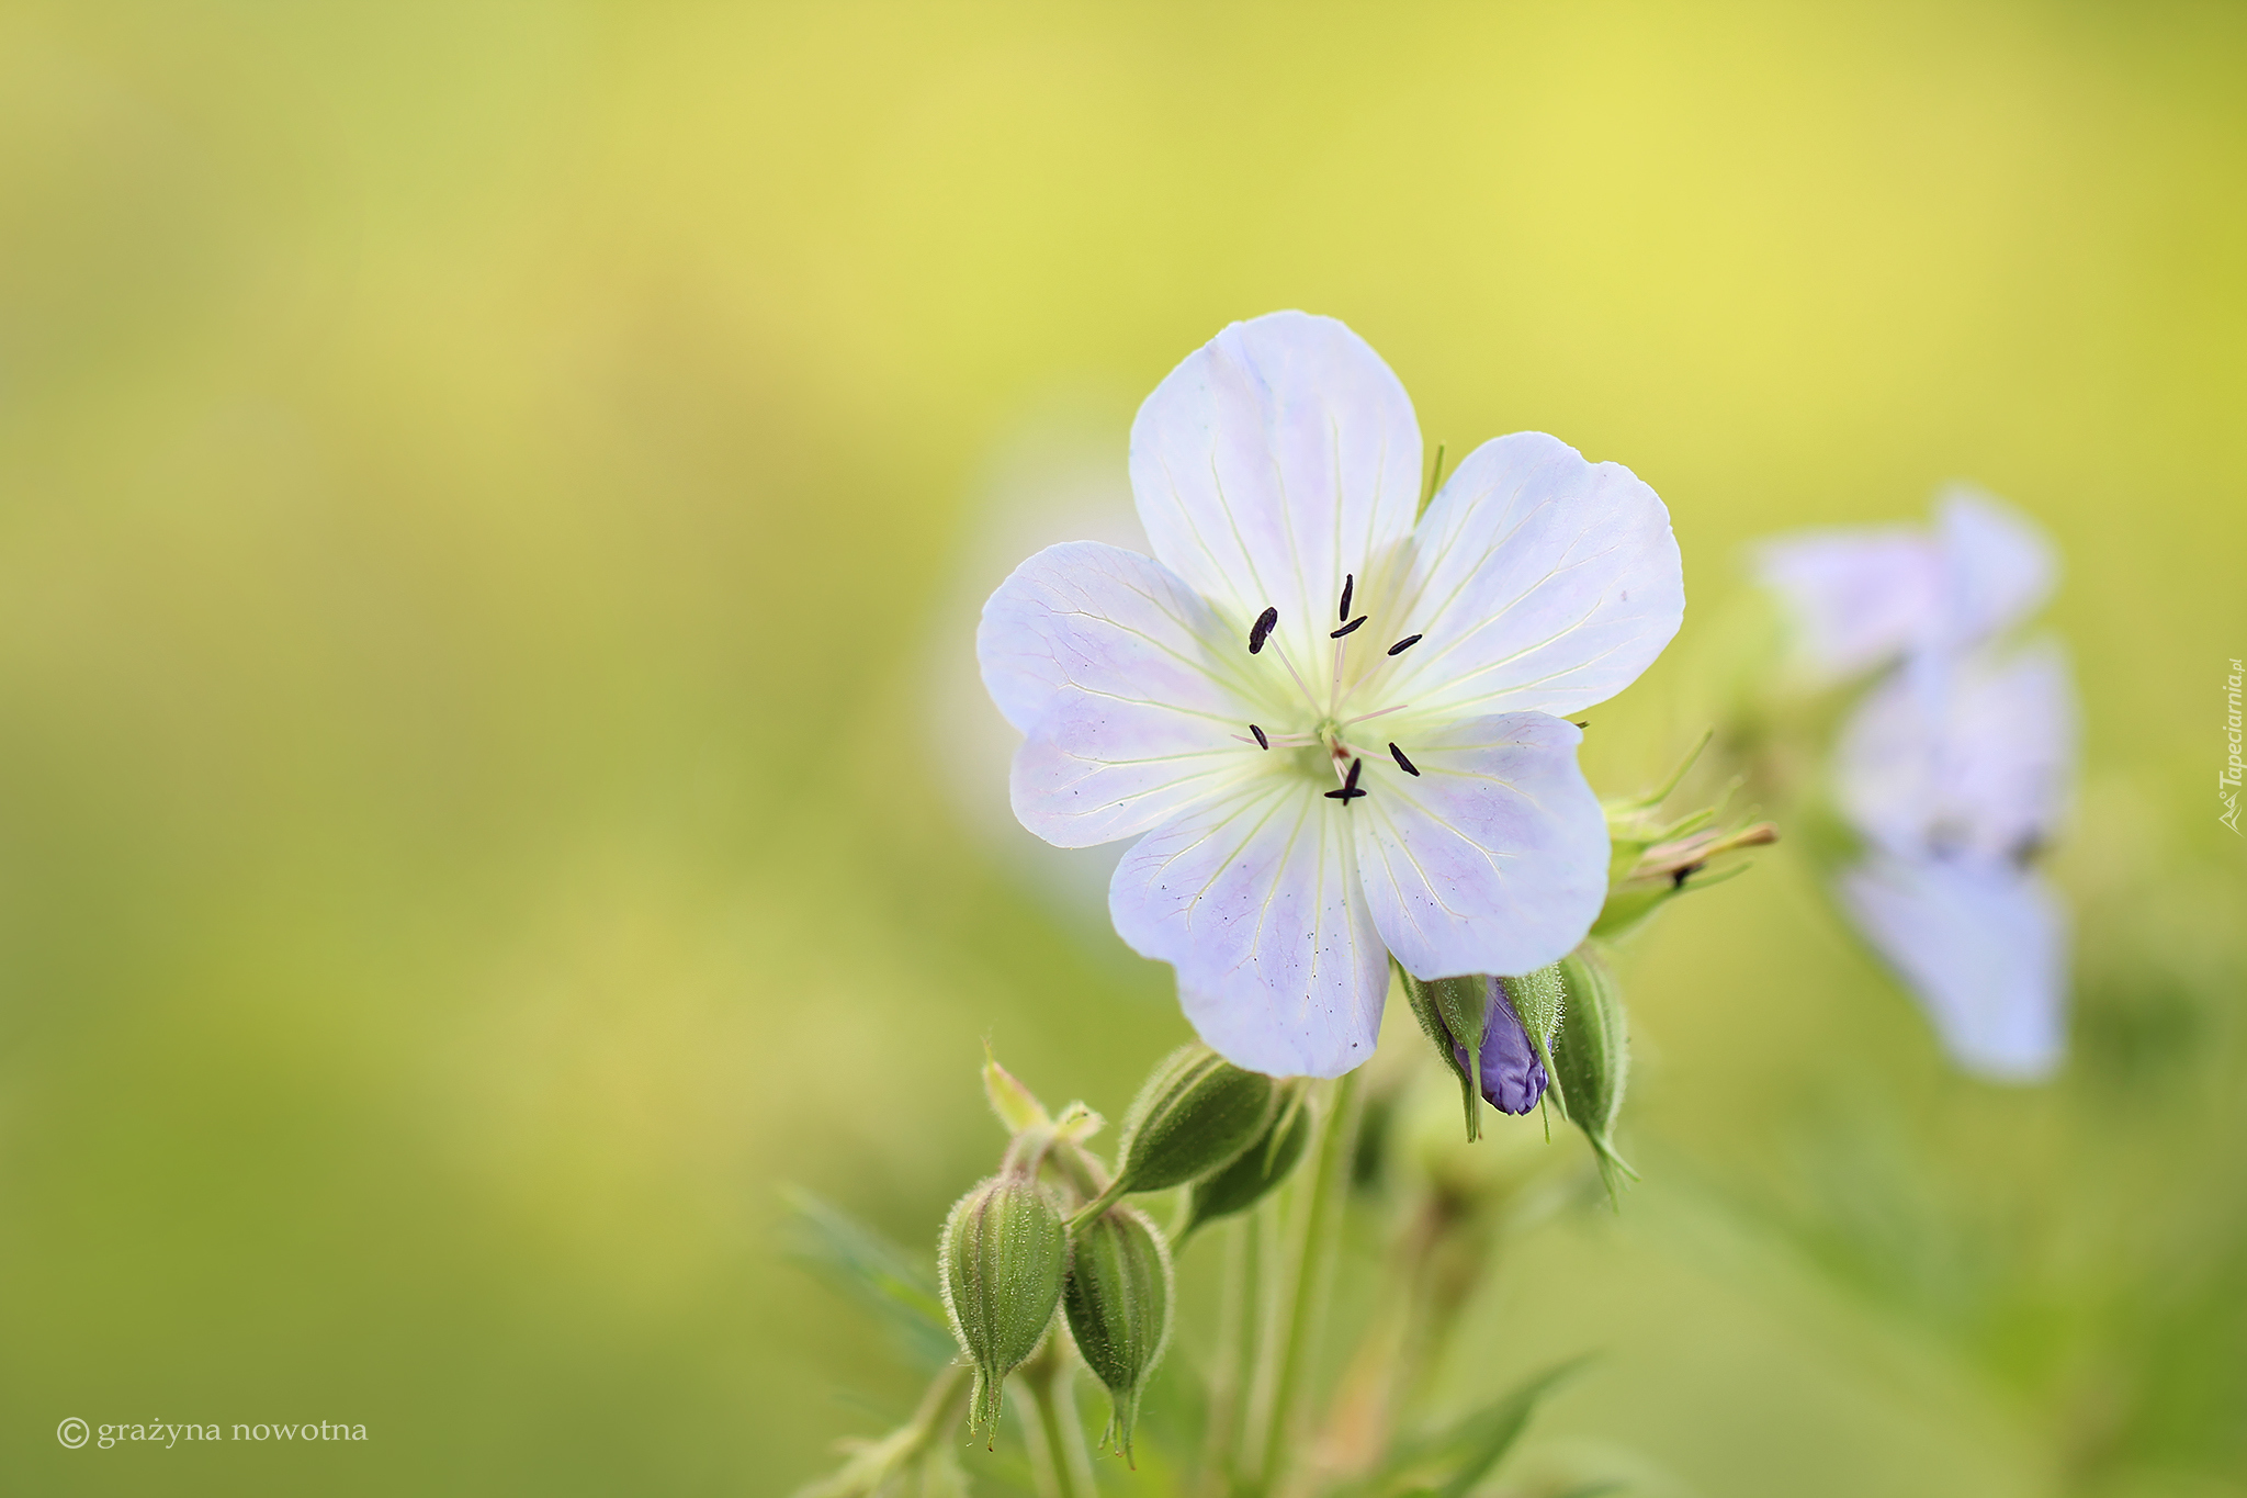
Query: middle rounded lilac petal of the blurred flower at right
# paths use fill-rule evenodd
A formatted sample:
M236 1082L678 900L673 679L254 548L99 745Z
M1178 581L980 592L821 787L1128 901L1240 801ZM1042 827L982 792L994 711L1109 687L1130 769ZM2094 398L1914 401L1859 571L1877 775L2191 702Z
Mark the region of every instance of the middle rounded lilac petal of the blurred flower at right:
M1919 665L1928 669L1917 669ZM2022 858L2049 840L2074 775L2076 701L2054 640L2011 654L1928 656L1872 689L1843 725L1836 800L1903 856Z

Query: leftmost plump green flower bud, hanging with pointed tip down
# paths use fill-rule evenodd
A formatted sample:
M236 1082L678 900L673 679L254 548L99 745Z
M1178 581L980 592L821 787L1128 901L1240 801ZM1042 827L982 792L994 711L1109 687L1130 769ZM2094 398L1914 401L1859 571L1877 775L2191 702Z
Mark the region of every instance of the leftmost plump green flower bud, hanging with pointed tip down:
M991 1177L953 1204L937 1240L944 1314L975 1365L968 1428L995 1440L1000 1388L1054 1321L1070 1240L1025 1175Z

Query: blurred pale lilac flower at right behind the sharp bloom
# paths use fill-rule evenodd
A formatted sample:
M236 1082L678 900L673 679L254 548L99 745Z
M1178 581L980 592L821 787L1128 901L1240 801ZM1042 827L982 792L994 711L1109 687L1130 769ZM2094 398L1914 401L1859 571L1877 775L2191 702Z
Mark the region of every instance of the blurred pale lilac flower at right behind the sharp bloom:
M1932 535L1789 537L1762 548L1762 575L1816 676L1901 656L1834 755L1836 804L1865 842L1836 878L1843 907L1959 1067L2049 1076L2067 1049L2067 910L2031 860L2067 804L2074 689L2058 642L1991 640L2052 591L2052 548L1955 490Z

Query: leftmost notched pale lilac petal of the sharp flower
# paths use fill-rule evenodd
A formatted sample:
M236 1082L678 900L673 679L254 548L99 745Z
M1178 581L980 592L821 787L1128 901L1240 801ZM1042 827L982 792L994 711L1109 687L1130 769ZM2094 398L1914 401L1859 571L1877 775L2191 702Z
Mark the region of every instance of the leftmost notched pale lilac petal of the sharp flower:
M1029 739L1013 813L1061 847L1135 838L1243 775L1238 665L1209 609L1164 566L1115 546L1049 546L984 604L984 683ZM1247 660L1247 647L1234 647Z

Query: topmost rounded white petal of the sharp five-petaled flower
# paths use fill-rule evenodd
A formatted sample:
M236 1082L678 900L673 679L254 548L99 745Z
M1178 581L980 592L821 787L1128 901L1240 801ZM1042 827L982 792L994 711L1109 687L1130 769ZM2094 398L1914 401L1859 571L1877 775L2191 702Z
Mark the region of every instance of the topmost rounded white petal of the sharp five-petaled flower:
M1139 407L1130 483L1155 555L1240 633L1279 609L1299 669L1364 597L1420 501L1420 427L1404 386L1330 317L1234 323Z

